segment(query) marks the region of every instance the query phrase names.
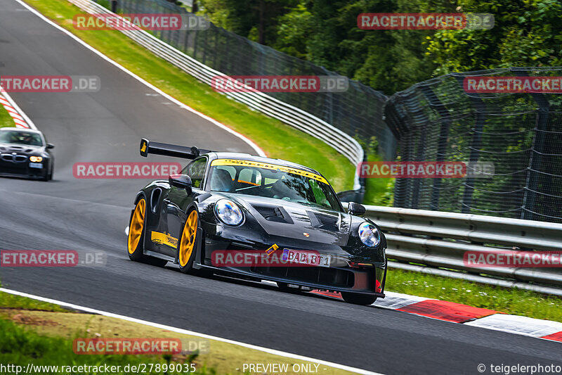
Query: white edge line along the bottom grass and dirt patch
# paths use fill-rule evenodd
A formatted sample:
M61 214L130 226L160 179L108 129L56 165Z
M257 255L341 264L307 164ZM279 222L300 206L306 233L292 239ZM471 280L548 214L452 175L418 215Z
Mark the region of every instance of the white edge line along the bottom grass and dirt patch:
M32 295L32 294L28 294L28 293L13 291L11 289L0 288L0 292L10 293L10 294L13 294L13 295L20 295L21 297L32 298L34 300L40 300L40 301L43 301L43 302L46 302L46 303L53 303L54 305L69 307L69 308L74 309L74 310L90 312L91 314L103 315L104 317L112 317L112 318L126 320L127 322L144 324L145 326L152 326L152 327L155 327L155 328L158 328L158 329L166 329L168 331L172 331L172 332L176 332L176 333L183 333L184 335L197 336L197 337L201 337L201 338L207 338L209 340L221 341L222 343L239 345L239 346L243 346L244 348L259 350L261 352L266 352L266 353L273 354L273 355L280 355L281 357L292 358L293 360L300 360L300 361L318 363L318 364L322 364L324 366L334 367L334 369L351 371L351 372L355 372L357 374L382 375L378 372L367 371L367 370L358 369L358 368L355 368L355 367L349 367L349 366L346 366L344 364L337 364L337 363L333 363L333 362L327 362L327 361L324 361L324 360L317 360L317 359L311 358L311 357L304 357L303 355L298 355L298 354L293 354L293 353L288 353L288 352L282 352L280 350L275 350L275 349L270 349L270 348L263 348L262 346L251 345L251 344L247 344L247 343L241 343L240 341L229 340L228 338L221 338L221 337L217 337L217 336L206 335L204 333L188 331L187 329L181 329L181 328L176 328L176 327L172 327L172 326L166 326L164 324L147 322L146 320L126 317L124 315L113 314L112 312L105 312L105 311L102 311L102 310L92 309L90 307L74 305L73 303L66 303L66 302L59 301L59 300L52 300L51 298L39 297L38 295Z

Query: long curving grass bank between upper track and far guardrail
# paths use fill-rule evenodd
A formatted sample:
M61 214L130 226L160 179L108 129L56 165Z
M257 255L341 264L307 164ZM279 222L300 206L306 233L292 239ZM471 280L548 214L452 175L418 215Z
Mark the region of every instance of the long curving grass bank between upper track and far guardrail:
M75 30L72 18L84 13L66 0L25 0L47 18L179 101L228 125L258 144L268 156L318 170L336 191L353 187L355 166L334 148L240 103L176 68L115 30ZM103 85L103 82L101 82ZM204 145L202 145L204 146Z

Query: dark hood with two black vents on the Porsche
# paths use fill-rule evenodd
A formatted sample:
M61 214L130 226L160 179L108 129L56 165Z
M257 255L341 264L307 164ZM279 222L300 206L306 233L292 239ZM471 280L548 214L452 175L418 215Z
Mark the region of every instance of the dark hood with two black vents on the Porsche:
M346 246L348 242L351 215L344 212L282 199L237 193L223 193L223 195L244 207L271 236L337 246Z

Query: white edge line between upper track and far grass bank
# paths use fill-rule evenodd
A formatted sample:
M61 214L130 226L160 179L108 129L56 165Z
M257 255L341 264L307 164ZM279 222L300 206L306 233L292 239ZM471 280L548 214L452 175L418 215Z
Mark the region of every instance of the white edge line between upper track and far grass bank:
M263 150L256 144L254 144L254 142L250 141L246 136L240 134L239 132L236 132L233 129L230 129L230 127L224 125L221 122L218 122L217 120L214 120L214 118L211 118L207 115L204 115L203 113L200 113L199 111L191 108L190 106L185 105L184 103L182 103L181 101L178 101L178 99L174 98L173 96L170 96L168 94L166 94L164 91L162 91L161 89L155 87L154 85L150 84L149 82L143 80L141 77L139 77L138 75L136 75L135 73L127 70L126 68L124 68L124 66L119 65L118 63L116 63L115 61L113 61L112 59L108 58L107 56L105 56L103 53L101 53L100 51L98 51L97 49L93 48L93 46L90 46L89 44L87 44L86 42L84 42L82 39L80 39L79 37L77 37L76 35L72 34L72 32L66 30L64 27L60 27L59 25L57 25L56 23L53 23L53 21L49 20L48 18L46 18L44 15L42 15L41 13L39 13L38 11L36 11L34 8L32 8L31 6L25 4L25 2L23 2L22 0L15 0L18 2L18 4L25 6L25 8L29 9L34 15L37 15L37 17L41 18L41 20L44 20L46 23L48 23L49 25L56 27L58 30L64 32L65 34L67 34L69 37L71 37L72 39L74 39L76 42L78 42L79 44L81 44L82 46L86 47L86 49L89 49L90 51L92 51L93 53L96 53L96 55L100 56L100 58L103 58L103 60L107 61L108 63L114 65L116 68L119 68L120 70L122 70L123 72L126 72L126 74L130 75L131 77L133 77L135 80L138 80L138 82L141 82L142 84L144 84L146 87L149 87L150 89L156 91L158 94L164 96L165 98L167 98L169 101L176 103L178 106L180 106L181 108L190 111L191 113L195 113L195 115L198 115L202 118L204 118L205 120L211 122L211 124L216 125L217 127L220 127L221 129L225 130L226 132L233 134L233 136L236 136L239 139L242 139L242 141L244 141L246 144L248 144L252 149L254 149L254 151L256 151L256 153L259 156L267 156L265 152L263 152Z

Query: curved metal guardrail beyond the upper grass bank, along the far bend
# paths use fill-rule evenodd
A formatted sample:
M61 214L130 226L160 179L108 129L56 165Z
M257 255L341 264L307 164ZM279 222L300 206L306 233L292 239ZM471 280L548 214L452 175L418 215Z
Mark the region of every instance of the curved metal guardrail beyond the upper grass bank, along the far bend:
M90 14L115 14L91 0L68 1ZM197 78L197 80L209 84L209 86L211 85L212 77L217 75L224 76L223 73L209 68L207 65L162 42L144 30L121 30L121 32L152 53L155 53L155 55L164 58L164 60L176 65L181 70ZM310 113L306 113L299 108L290 106L259 91L229 92L228 96L235 101L244 103L249 108L258 110L261 113L285 122L287 125L311 134L311 136L315 136L335 148L342 155L345 155L353 165L358 165L358 163L363 161L363 149L355 139ZM360 189L358 176L355 177L353 189Z

